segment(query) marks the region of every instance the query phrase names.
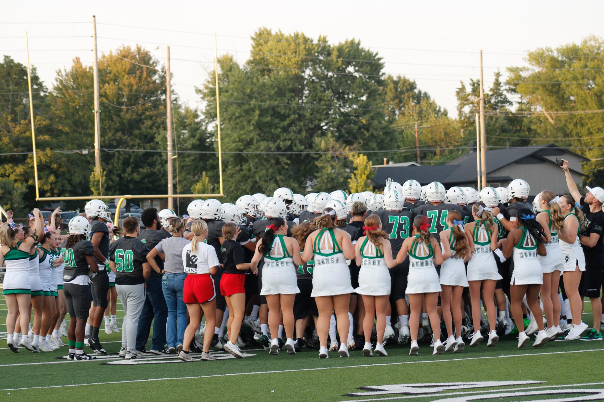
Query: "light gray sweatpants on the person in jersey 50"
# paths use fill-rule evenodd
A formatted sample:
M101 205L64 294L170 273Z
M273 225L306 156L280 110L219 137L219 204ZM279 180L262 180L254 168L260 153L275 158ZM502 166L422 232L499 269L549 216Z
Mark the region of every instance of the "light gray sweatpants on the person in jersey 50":
M138 318L141 316L145 304L145 285L141 284L115 284L115 291L124 306L124 321L121 324L121 346L126 350L136 353Z

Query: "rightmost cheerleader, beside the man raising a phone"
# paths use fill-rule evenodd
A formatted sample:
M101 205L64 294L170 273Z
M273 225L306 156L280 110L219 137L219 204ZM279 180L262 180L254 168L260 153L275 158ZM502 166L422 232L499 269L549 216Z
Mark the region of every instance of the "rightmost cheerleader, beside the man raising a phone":
M559 230L560 249L564 257L564 268L562 275L564 278L564 290L570 303L570 310L574 321L570 330L564 337L567 341L579 339L583 331L587 329L587 324L581 321L582 298L579 295L579 282L582 272L585 271L585 255L579 242L579 232L581 231L581 222L583 213L579 208L579 203L574 201L570 195L563 195L558 199L558 204L564 215L566 230Z

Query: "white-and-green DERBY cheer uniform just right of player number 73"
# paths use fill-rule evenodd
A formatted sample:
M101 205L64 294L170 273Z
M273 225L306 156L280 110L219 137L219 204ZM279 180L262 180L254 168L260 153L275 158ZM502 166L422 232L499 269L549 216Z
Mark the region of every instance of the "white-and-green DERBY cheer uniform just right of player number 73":
M439 274L434 267L434 250L432 244L422 243L419 234L411 242L409 250L409 275L407 277L407 294L440 292Z

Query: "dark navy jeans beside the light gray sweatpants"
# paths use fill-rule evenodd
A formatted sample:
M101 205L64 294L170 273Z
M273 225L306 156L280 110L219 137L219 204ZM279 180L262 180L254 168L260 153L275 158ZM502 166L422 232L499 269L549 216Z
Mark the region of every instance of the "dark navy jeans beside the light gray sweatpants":
M153 321L153 338L151 350L164 350L165 348L165 322L168 318L168 307L165 305L164 294L161 291L161 278L147 279L145 289L147 297L143 312L138 320L137 350L143 350L149 339L151 322Z

